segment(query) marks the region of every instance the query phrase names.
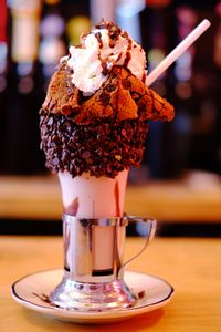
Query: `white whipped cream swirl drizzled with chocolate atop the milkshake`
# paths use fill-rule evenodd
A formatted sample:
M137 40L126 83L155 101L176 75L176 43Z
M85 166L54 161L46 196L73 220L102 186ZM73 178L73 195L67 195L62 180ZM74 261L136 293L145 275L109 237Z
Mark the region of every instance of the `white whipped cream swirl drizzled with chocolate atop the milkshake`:
M108 79L114 65L127 68L145 82L146 54L125 31L113 39L108 29L94 29L81 38L81 46L70 48L67 65L73 70L72 83L85 96L94 94Z

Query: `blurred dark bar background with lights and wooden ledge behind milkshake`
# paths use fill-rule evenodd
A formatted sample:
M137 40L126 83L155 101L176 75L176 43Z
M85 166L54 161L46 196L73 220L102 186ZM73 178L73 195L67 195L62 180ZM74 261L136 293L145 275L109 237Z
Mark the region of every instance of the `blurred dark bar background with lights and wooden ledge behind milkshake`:
M187 220L214 224L212 234L220 234L221 1L213 0L0 0L0 219L60 218L56 180L39 148L39 110L60 58L101 18L116 21L143 44L148 71L203 18L211 21L151 86L175 105L176 118L150 123L144 163L129 176L139 200L129 189L127 201L131 193L135 211L150 211L164 225L172 221L172 228L161 227L170 234ZM171 211L183 203L182 214ZM0 230L9 231L9 224L0 222Z

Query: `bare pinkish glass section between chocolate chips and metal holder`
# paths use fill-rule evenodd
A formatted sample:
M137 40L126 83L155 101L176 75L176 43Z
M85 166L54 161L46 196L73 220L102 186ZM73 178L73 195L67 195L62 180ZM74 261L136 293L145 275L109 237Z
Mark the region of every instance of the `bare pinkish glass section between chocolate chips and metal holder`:
M82 218L123 217L127 175L125 169L114 179L86 173L72 178L70 173L60 172L64 212Z

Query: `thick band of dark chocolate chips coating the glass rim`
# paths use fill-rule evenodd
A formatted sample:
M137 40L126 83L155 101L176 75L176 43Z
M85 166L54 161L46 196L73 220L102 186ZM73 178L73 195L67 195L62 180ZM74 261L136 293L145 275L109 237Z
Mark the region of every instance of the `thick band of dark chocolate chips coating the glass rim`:
M77 125L62 114L41 114L40 123L41 148L53 173L67 170L75 177L86 172L115 178L143 159L148 132L144 120L106 118Z

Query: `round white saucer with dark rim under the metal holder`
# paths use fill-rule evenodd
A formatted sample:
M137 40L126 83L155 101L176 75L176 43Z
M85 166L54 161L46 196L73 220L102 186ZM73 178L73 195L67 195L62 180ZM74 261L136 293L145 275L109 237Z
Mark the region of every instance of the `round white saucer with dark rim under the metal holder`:
M126 271L125 281L135 294L143 292L133 308L102 312L85 312L55 308L39 297L49 293L61 281L63 270L48 270L29 274L12 284L13 299L20 304L55 319L84 324L112 323L126 320L166 305L173 293L173 288L165 280L138 272ZM38 295L39 297L38 297Z

